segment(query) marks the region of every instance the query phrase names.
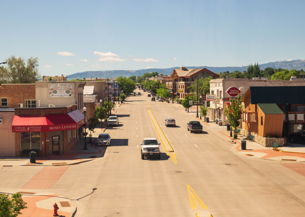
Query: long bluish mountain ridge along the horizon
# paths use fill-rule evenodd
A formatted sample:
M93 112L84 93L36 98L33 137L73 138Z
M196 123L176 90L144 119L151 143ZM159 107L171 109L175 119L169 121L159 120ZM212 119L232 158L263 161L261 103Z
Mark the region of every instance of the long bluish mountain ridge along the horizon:
M253 63L254 64L254 63ZM282 68L282 69L296 69L305 70L305 60L285 60L285 61L276 61L276 62L268 62L264 64L260 64L260 69L265 69L268 67L272 67L275 69ZM248 66L227 66L227 67L212 67L212 66L186 66L188 69L199 69L199 68L207 68L208 70L219 73L219 72L233 72L235 70L244 71L247 70ZM179 69L180 67L172 67L168 69L141 69L141 70L111 70L111 71L86 71L86 72L79 72L72 75L67 76L67 80L71 79L82 79L82 78L117 78L119 76L123 77L130 77L132 75L135 76L142 76L144 73L151 73L157 71L162 73L163 75L171 75L174 69Z

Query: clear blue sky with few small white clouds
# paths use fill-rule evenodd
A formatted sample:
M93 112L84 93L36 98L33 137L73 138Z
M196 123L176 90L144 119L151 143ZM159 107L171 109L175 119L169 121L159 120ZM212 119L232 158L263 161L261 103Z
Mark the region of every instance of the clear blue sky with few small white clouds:
M0 62L41 75L305 59L305 1L2 1Z

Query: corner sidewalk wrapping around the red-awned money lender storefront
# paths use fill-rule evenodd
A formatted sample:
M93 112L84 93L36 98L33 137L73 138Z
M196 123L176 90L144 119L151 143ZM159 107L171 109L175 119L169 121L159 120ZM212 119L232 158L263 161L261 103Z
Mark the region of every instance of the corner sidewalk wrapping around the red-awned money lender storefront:
M107 127L107 122L104 122L104 128L96 128L95 133L92 133L92 143L87 141L87 150L84 150L85 138L79 140L75 146L67 153L62 155L50 155L46 157L36 157L36 163L31 164L29 156L26 157L1 157L1 166L26 166L26 165L42 165L42 166L62 166L73 165L101 157L104 155L105 147L96 147L95 143L100 133L104 133Z

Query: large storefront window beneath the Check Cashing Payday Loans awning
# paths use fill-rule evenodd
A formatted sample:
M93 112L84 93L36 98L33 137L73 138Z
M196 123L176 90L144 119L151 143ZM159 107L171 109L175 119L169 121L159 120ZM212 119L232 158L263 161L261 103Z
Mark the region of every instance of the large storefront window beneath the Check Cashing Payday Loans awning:
M21 150L23 149L39 149L41 150L40 133L21 133L20 134Z

